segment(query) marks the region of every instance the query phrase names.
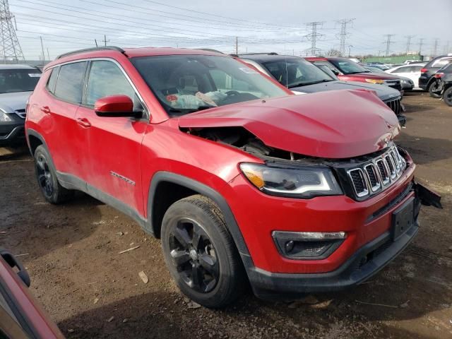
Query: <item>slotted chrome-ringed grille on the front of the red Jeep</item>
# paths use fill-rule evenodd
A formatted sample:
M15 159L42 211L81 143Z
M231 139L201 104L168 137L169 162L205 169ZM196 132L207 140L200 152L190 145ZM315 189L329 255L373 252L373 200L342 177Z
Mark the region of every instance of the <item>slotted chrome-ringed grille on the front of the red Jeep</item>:
M382 191L402 175L406 162L395 145L359 167L348 169L347 174L358 198Z

